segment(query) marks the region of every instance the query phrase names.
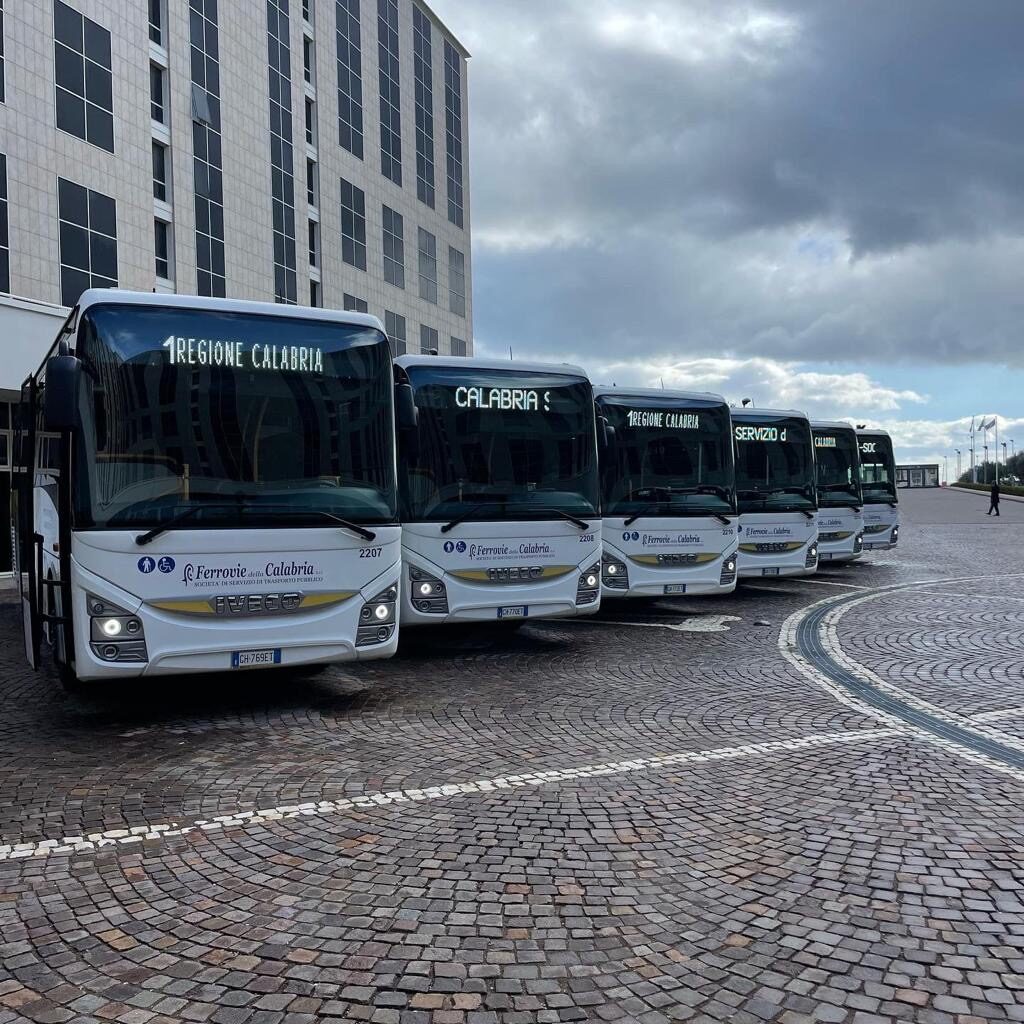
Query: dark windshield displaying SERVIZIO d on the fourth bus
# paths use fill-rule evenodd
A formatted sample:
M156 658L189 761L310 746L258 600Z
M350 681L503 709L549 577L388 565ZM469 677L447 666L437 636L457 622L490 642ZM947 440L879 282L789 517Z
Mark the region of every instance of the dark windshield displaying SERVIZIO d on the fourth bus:
M807 420L733 415L733 433L740 512L805 512L817 508L814 450Z

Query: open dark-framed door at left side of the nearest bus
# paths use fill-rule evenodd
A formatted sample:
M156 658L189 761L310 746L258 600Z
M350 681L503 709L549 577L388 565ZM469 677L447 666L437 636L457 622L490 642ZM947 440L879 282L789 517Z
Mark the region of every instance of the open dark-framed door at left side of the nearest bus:
M22 599L25 656L33 669L39 668L42 640L39 580L42 573L42 538L36 534L36 385L31 378L22 386L14 434L14 485L11 488L11 556L14 579Z

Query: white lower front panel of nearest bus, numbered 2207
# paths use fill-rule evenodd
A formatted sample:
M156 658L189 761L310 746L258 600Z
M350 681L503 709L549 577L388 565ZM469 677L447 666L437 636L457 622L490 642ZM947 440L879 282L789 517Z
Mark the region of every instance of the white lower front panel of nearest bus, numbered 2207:
M400 528L80 531L72 542L80 679L388 657ZM128 631L131 632L128 632Z

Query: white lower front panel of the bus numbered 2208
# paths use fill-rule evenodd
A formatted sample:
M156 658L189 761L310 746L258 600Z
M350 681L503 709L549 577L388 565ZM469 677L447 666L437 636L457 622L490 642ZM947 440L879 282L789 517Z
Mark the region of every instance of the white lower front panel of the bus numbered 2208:
M600 604L601 522L402 526L402 626L585 615Z

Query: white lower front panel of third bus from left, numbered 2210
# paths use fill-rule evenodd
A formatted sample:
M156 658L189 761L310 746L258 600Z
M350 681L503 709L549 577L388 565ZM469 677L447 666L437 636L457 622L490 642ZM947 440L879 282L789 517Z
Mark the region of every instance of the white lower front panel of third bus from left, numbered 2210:
M604 520L604 597L728 594L736 588L736 524L707 516Z

